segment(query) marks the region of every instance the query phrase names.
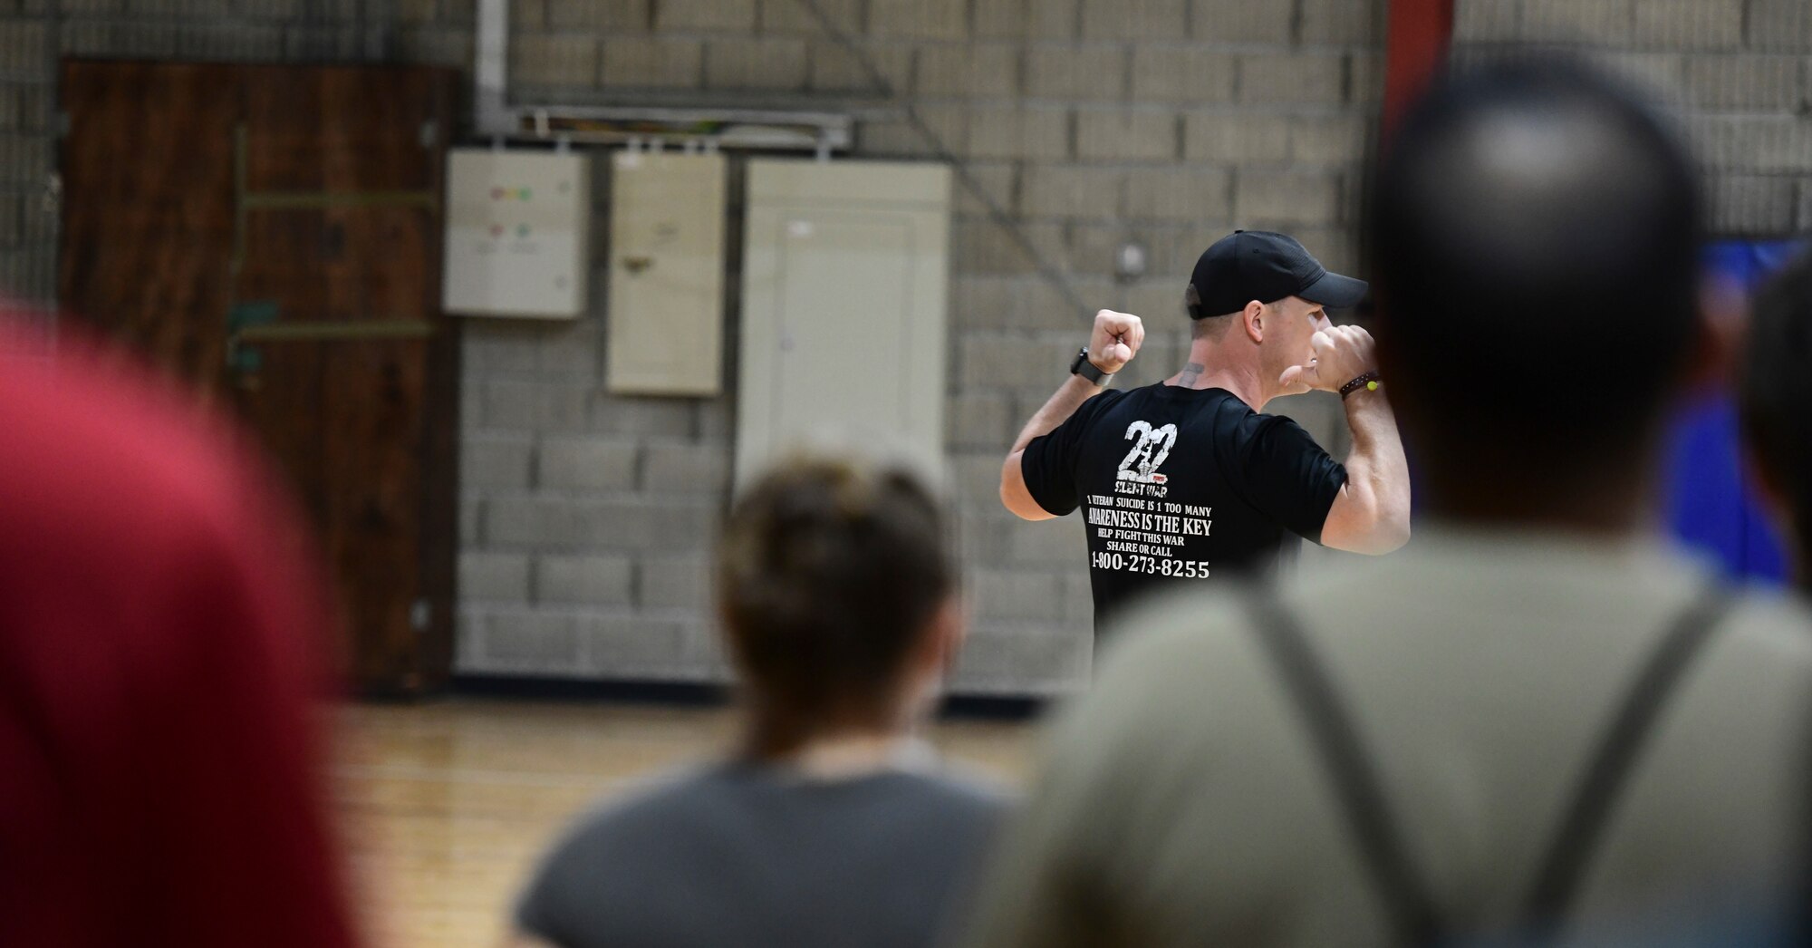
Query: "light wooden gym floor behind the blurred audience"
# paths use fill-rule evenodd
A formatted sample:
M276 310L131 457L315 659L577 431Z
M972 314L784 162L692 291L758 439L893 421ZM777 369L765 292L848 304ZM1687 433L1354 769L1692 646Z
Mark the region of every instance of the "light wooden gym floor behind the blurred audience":
M493 948L551 837L602 798L723 749L728 709L458 698L341 705L333 799L373 948ZM1017 785L1035 725L937 723L951 761Z

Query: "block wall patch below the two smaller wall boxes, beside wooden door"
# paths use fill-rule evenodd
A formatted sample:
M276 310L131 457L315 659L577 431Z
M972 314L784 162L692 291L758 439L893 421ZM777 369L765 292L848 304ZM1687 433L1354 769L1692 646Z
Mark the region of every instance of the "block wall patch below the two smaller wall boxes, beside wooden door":
M573 323L466 323L462 672L727 674L708 547L727 506L730 406L605 393L605 299L598 283Z

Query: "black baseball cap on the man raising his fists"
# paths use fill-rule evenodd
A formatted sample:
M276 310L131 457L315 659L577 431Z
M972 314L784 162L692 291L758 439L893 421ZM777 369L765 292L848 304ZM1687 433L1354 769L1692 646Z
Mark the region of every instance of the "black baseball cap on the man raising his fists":
M1214 241L1196 261L1189 277L1200 305L1190 319L1243 310L1252 299L1276 303L1299 295L1323 306L1346 308L1364 299L1363 279L1330 274L1326 266L1288 234L1234 230Z

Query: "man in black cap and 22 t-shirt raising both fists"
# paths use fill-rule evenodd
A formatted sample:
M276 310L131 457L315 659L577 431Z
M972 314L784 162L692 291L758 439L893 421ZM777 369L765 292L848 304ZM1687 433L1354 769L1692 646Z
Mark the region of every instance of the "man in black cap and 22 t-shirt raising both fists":
M1000 498L1018 517L1084 508L1096 634L1154 585L1263 576L1296 537L1357 553L1408 540L1408 464L1372 335L1326 315L1364 292L1292 237L1236 230L1201 254L1185 290L1189 364L1131 392L1105 386L1145 328L1131 314L1096 314L1071 379L1000 471ZM1308 390L1341 393L1346 464L1290 419L1259 413Z

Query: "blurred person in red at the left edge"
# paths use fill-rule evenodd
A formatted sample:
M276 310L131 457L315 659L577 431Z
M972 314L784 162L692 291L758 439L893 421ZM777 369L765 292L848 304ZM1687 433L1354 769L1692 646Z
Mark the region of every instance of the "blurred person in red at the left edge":
M129 359L0 314L0 944L353 944L326 595L270 475Z

